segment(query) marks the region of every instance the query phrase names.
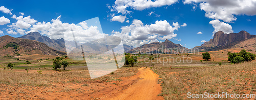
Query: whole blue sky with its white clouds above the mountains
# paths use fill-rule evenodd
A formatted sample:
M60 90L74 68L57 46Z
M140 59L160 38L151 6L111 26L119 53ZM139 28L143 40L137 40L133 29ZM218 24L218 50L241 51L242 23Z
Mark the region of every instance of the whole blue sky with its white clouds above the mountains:
M168 39L194 48L203 40L209 41L218 30L227 34L246 30L256 35L254 0L2 1L0 7L0 36L20 37L30 31L39 31L57 39L69 31L63 27L75 28L72 23L95 17L99 18L104 35L119 36L124 44L135 47ZM38 23L41 24L36 25ZM90 27L90 23L83 27L93 31L89 36L94 38L90 39L102 36L101 32L90 30L100 30L100 27ZM75 29L80 31L80 28ZM202 34L197 34L200 31Z

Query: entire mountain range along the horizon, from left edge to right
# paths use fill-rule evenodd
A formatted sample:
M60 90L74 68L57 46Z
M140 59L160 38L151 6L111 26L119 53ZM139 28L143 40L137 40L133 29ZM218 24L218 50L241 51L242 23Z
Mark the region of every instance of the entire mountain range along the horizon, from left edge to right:
M87 45L88 44L89 43L87 43ZM0 54L66 55L65 40L63 38L54 40L47 36L40 35L39 32L30 32L29 34L18 38L10 36L0 37L0 48ZM86 48L93 51L95 45L89 44ZM126 53L186 53L187 51L195 49L198 49L199 51L217 51L231 48L241 48L256 52L256 36L250 35L244 30L238 33L232 32L230 34L218 31L215 33L213 39L210 39L208 42L203 43L201 46L196 46L193 49L187 49L182 45L175 44L167 39L161 43L154 42L151 44L144 44L137 48L123 45L123 48Z

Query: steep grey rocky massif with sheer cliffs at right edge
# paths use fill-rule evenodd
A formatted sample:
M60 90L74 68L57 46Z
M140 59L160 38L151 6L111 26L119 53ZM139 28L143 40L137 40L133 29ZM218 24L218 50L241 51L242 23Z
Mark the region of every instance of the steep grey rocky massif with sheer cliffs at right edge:
M215 33L214 38L205 42L198 48L199 51L216 51L230 48L243 48L255 51L256 36L250 35L247 31L240 31L236 33L224 34L223 31Z

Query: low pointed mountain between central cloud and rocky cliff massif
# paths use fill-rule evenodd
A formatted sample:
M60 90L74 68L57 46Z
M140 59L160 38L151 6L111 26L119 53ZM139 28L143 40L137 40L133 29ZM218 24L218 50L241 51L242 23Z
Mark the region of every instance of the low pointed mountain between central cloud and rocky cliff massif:
M162 43L154 42L151 44L142 45L130 50L127 53L185 53L187 51L187 48L166 39Z

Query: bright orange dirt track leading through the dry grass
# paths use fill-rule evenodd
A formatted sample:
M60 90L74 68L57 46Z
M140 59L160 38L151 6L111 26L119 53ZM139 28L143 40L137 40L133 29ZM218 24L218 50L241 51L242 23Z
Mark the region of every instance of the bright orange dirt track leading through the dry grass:
M157 84L159 75L150 68L138 70L134 78L137 77L139 80L110 99L163 99L162 96L157 96L161 92L161 86Z

